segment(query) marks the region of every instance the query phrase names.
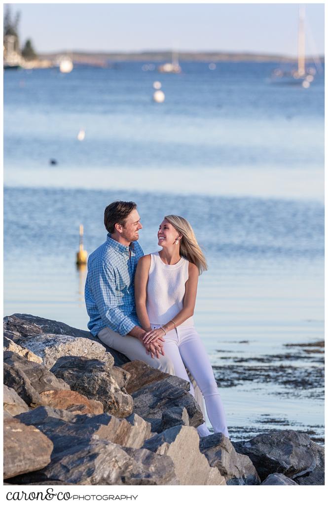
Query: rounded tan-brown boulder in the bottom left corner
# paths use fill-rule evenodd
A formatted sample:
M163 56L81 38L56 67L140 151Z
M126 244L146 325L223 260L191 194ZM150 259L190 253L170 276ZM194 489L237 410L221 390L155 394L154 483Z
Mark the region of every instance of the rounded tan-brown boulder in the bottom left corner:
M4 418L4 478L39 470L50 463L53 443L35 426Z

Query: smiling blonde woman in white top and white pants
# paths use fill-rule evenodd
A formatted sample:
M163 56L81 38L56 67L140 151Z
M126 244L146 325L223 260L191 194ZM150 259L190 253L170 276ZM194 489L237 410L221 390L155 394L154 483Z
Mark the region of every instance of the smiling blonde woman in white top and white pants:
M157 236L162 250L140 258L134 278L136 313L147 331L144 342L164 338L164 353L175 374L190 382L185 367L189 369L204 396L214 432L228 437L212 366L193 321L198 276L207 270L206 260L192 227L180 216L165 216ZM190 392L195 396L192 383ZM198 433L210 434L205 423Z

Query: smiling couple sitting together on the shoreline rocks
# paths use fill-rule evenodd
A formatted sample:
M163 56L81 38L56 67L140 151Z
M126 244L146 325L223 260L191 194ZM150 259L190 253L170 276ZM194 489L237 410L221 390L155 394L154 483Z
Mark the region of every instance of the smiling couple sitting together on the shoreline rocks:
M214 432L228 437L212 366L193 321L198 276L207 265L192 227L182 217L165 216L157 233L162 249L144 256L134 202L114 201L104 222L107 240L88 259L90 332L131 361L189 381L201 407L205 399ZM200 436L210 434L205 422L197 430Z

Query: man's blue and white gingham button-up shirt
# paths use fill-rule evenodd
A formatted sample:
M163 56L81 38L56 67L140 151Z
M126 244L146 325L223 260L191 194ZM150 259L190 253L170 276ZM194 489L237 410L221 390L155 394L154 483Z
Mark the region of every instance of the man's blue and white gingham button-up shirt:
M144 256L138 242L120 244L107 234L107 240L90 254L85 282L85 305L92 335L108 326L127 335L140 326L134 302L134 274L139 258Z

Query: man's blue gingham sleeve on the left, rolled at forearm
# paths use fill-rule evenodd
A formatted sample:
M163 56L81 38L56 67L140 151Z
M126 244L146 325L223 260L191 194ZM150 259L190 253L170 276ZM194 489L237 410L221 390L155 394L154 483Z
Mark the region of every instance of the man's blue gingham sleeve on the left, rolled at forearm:
M115 293L115 274L111 267L100 263L93 272L91 289L95 301L106 326L122 336L127 335L135 323L117 306Z

